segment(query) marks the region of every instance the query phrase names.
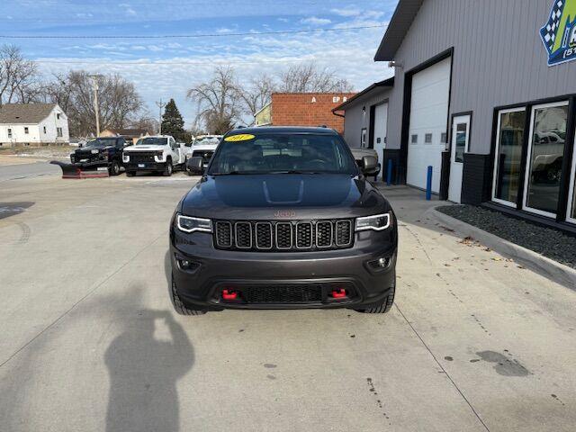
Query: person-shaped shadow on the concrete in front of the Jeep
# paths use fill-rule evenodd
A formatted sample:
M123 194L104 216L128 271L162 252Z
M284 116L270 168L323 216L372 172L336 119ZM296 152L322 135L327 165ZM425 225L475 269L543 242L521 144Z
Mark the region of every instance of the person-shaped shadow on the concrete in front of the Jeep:
M104 354L110 377L106 431L177 431L176 383L193 366L190 340L169 311L139 311L122 324ZM155 338L158 327L168 329L166 339Z

